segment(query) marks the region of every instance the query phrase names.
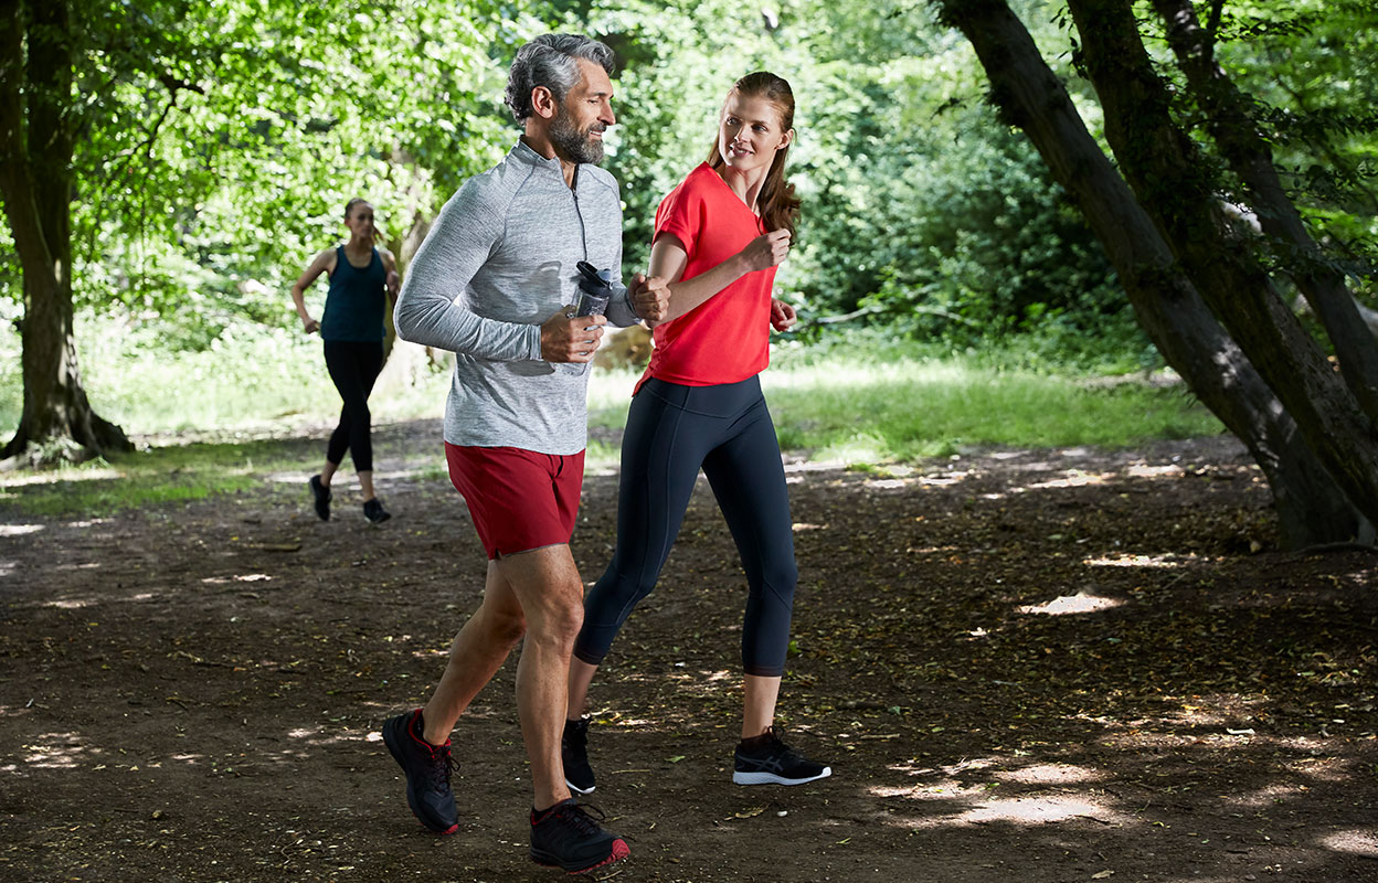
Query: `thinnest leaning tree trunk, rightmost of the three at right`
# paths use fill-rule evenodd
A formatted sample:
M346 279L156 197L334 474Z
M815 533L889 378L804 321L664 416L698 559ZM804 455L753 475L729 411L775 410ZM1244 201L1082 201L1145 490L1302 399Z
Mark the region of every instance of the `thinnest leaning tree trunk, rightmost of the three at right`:
M1326 328L1349 390L1370 420L1378 419L1378 342L1359 315L1342 273L1326 259L1287 197L1268 142L1254 127L1250 101L1215 63L1210 34L1186 0L1153 0L1167 25L1177 65L1206 112L1207 127L1231 169L1248 189L1259 225L1287 258L1284 270Z

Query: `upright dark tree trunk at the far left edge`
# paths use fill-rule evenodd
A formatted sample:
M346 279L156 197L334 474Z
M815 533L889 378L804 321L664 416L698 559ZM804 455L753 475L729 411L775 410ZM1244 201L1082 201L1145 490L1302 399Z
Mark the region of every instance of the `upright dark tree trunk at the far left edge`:
M33 8L0 0L0 193L23 267L25 295L23 413L0 456L23 455L32 461L80 460L132 448L120 427L91 409L77 371L68 18L66 4L55 0ZM25 69L26 19L32 30Z

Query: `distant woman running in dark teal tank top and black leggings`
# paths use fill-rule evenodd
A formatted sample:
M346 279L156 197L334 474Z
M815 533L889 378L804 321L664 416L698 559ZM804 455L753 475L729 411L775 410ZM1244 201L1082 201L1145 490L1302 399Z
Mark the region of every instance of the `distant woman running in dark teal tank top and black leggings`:
M317 255L302 278L292 285L292 300L296 303L296 314L302 317L302 326L306 333L321 332L321 340L325 342L325 369L344 399L340 422L325 446L325 467L320 475L311 475L310 488L316 514L321 521L329 521L331 479L339 470L344 452L350 452L360 490L364 493L364 518L376 525L391 515L373 493L368 395L373 391L378 373L383 371L383 339L387 336L383 311L390 306L389 298L397 300L401 285L393 253L373 244L378 237L373 207L364 200L350 200L344 207L344 226L349 227L349 242ZM317 322L306 311L305 292L321 273L329 276L331 291L325 296L325 315Z

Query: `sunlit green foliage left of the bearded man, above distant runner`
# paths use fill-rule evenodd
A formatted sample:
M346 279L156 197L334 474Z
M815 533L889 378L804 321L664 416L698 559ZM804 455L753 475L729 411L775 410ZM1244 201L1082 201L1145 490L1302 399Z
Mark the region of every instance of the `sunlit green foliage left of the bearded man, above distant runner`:
M506 47L544 29L488 0L81 10L74 295L169 317L192 349L291 321L350 197L395 241L502 156Z

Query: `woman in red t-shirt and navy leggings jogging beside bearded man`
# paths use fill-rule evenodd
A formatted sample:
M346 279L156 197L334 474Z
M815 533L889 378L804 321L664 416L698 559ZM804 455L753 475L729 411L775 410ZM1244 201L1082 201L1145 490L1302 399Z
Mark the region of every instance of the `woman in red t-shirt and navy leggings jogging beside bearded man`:
M633 607L650 594L701 467L747 572L741 628L745 708L732 780L798 785L832 770L791 751L773 727L790 643L798 570L790 497L774 426L757 375L770 326L794 310L770 296L790 251L799 200L785 183L794 95L772 73L728 92L708 161L656 211L650 274L670 281L670 313L655 326L621 444L617 548L584 599L569 669L565 778L594 789L583 709L588 685Z

